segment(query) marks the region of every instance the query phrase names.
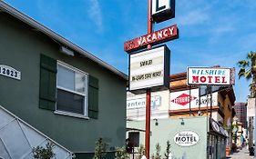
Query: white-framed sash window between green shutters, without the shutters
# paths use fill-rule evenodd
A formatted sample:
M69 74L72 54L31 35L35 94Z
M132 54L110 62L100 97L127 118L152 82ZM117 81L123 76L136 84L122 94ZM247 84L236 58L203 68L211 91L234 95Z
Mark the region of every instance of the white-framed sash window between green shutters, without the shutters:
M56 111L87 116L88 75L77 68L57 62Z

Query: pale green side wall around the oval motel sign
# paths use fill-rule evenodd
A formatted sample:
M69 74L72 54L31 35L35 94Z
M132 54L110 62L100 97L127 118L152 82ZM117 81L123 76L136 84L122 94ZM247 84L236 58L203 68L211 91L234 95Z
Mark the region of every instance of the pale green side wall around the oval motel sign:
M156 144L161 147L160 154L164 156L167 141L170 142L170 152L176 158L207 158L207 132L209 131L208 117L186 117L182 119L159 119L151 120L151 136L150 136L150 154L156 154ZM145 121L129 121L128 127L134 127L139 130L145 129ZM197 126L195 126L197 125ZM174 136L181 131L192 131L199 135L200 139L197 144L190 146L180 146L174 143ZM139 142L144 144L145 133L139 133ZM196 152L196 153L195 153Z

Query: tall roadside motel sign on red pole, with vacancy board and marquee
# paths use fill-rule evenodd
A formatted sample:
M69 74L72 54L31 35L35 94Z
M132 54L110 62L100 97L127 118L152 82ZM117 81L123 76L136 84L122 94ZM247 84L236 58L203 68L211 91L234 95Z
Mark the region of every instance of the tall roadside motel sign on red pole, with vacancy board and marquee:
M149 158L150 98L151 91L169 89L169 57L167 45L160 45L179 38L177 25L152 31L154 23L175 17L175 0L148 0L148 34L129 40L124 50L129 55L129 86L133 94L146 94L146 157ZM152 45L155 45L151 48ZM147 49L148 48L148 49Z

